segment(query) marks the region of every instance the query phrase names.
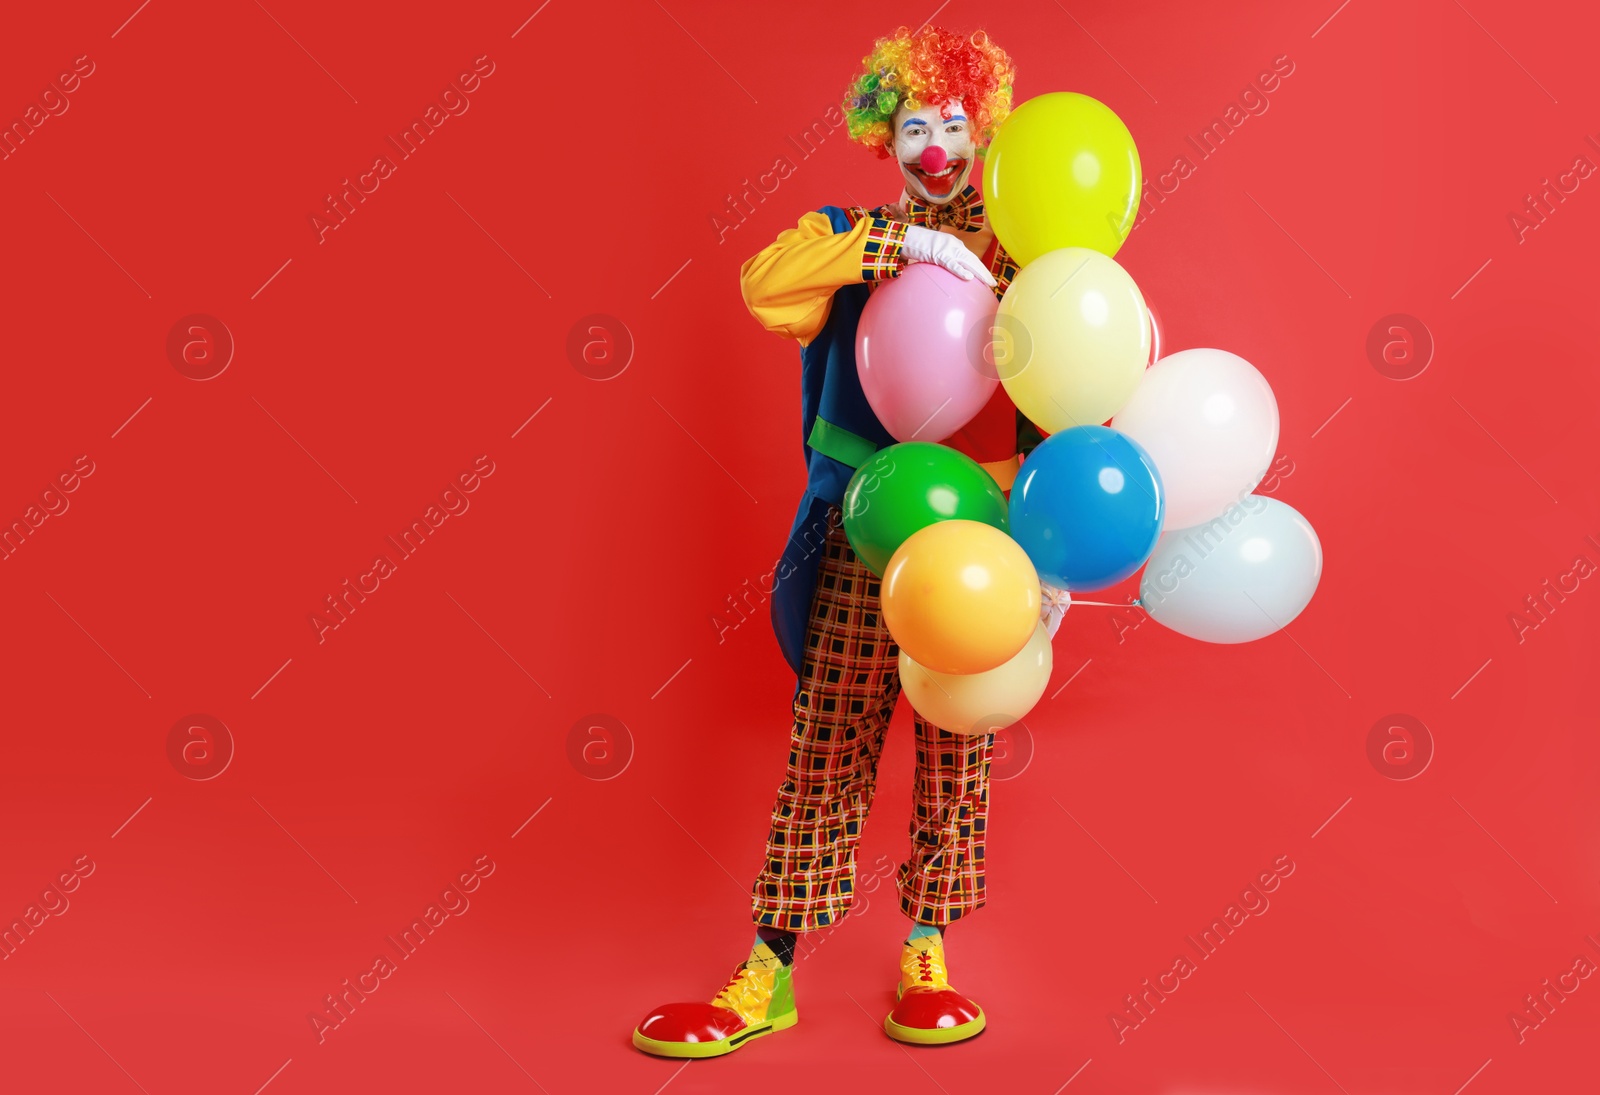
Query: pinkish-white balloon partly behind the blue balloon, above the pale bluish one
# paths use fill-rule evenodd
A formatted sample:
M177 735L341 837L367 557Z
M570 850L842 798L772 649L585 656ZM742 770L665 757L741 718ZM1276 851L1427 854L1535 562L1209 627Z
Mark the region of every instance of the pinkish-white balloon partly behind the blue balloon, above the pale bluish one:
M1165 528L1211 520L1261 482L1278 448L1278 402L1237 354L1189 349L1144 373L1110 421L1155 461L1166 488Z

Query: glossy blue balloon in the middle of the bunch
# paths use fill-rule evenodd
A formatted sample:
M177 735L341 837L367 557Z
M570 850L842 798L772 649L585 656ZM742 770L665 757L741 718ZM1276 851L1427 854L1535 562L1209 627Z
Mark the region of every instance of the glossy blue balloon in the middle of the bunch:
M1115 586L1142 567L1165 511L1155 461L1107 426L1051 434L1011 485L1011 536L1043 581L1074 592Z

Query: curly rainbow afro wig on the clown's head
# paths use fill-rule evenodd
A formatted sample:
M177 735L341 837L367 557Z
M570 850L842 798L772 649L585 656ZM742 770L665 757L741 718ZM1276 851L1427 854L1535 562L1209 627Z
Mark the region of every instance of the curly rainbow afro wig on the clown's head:
M872 53L861 59L861 74L843 102L850 139L888 157L894 110L960 99L982 155L1011 114L1014 78L1011 58L982 30L962 37L944 27L926 26L915 34L901 27L874 42Z

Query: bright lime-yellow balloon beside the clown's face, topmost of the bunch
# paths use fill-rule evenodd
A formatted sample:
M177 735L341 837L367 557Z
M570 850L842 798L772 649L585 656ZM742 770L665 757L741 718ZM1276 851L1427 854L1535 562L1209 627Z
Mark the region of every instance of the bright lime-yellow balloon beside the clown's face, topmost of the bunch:
M1021 266L1062 247L1115 255L1133 231L1142 186L1128 126L1077 91L1019 106L984 155L984 210Z

